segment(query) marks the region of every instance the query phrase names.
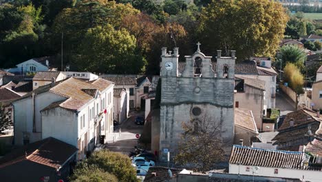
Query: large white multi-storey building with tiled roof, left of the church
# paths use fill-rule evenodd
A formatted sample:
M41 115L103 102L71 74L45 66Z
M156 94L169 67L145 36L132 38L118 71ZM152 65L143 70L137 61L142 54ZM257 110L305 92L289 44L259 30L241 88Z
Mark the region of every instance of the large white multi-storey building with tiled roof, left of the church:
M113 132L114 84L69 78L14 101L14 144L54 137L78 148L78 159Z

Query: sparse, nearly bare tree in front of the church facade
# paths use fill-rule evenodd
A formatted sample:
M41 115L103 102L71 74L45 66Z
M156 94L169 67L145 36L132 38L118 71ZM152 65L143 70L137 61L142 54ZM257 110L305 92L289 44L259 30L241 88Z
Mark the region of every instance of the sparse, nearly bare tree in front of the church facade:
M201 121L182 123L182 139L178 145L175 163L194 165L194 170L206 172L212 170L215 163L224 159L223 144L220 139L222 123L215 124L206 114Z

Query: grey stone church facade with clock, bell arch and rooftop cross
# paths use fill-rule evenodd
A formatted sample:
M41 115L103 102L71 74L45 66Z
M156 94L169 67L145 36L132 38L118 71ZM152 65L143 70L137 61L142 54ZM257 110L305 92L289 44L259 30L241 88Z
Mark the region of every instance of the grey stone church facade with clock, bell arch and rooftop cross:
M205 115L220 123L220 136L229 150L234 131L235 51L217 61L197 50L179 62L178 48L167 52L162 48L160 102L160 161L167 160L167 152L174 156L178 149L182 122L196 124Z

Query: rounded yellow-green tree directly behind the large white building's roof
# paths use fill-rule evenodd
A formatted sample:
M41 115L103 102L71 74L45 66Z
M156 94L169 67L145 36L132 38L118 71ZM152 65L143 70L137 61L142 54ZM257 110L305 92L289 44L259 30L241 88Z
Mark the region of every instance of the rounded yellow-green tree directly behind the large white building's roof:
M87 31L72 63L78 70L89 72L139 74L144 72L145 60L136 51L133 35L107 25Z

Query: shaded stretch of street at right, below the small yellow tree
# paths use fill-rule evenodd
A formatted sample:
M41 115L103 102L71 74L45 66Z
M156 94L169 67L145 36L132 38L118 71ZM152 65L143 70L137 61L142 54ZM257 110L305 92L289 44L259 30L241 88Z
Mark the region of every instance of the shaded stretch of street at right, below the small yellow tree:
M295 110L295 103L283 92L278 92L276 93L275 108L281 111L281 116L283 117Z

